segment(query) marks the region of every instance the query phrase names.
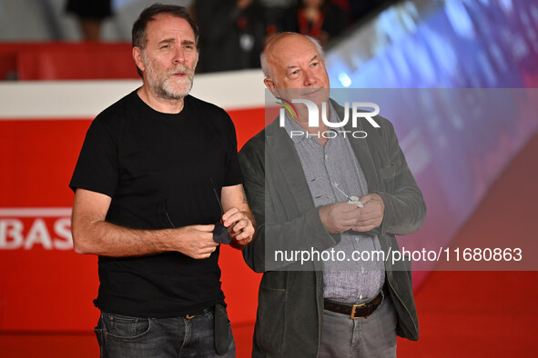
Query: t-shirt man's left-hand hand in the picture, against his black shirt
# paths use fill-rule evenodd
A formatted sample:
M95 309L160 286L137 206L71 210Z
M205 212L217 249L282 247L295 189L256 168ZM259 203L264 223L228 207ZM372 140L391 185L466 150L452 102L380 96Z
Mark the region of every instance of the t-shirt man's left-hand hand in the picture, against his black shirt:
M213 240L213 229L215 225L189 225L178 229L172 229L174 234L180 235L179 240L171 240L178 247L171 247L172 250L186 254L193 259L206 259L215 250L218 243ZM174 235L172 234L172 235Z

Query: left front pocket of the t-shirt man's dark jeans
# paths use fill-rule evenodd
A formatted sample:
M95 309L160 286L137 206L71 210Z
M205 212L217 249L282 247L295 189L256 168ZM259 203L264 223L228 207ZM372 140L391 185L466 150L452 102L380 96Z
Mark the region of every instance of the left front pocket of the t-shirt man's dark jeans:
M107 338L118 340L137 339L151 330L151 319L149 318L102 313L101 323L103 333Z

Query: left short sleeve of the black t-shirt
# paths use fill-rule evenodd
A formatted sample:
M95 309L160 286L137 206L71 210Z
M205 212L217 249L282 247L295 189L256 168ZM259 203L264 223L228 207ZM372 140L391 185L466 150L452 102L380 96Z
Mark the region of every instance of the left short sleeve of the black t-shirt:
M118 182L117 140L99 116L86 132L69 187L90 190L110 197Z

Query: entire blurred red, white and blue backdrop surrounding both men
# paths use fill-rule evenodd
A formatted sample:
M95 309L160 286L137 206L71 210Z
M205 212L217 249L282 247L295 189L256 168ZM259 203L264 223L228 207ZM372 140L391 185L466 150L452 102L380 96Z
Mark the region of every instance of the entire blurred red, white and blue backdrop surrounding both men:
M3 357L98 355L96 257L72 250L67 184L91 120L141 84L130 31L153 2L0 0ZM421 340L399 341L400 356L533 356L538 1L162 3L197 18L192 94L228 111L239 148L265 123L265 41L312 35L326 50L332 94L381 104L421 186L428 217L401 246L523 247L519 264L417 263ZM260 276L228 247L220 265L246 357Z

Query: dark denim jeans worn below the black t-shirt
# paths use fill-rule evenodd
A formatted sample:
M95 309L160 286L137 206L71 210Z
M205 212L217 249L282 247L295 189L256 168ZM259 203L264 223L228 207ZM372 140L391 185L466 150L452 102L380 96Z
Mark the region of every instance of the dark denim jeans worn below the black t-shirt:
M138 318L102 312L96 326L102 358L235 357L229 327L229 348L215 352L214 316L205 310L193 318Z

